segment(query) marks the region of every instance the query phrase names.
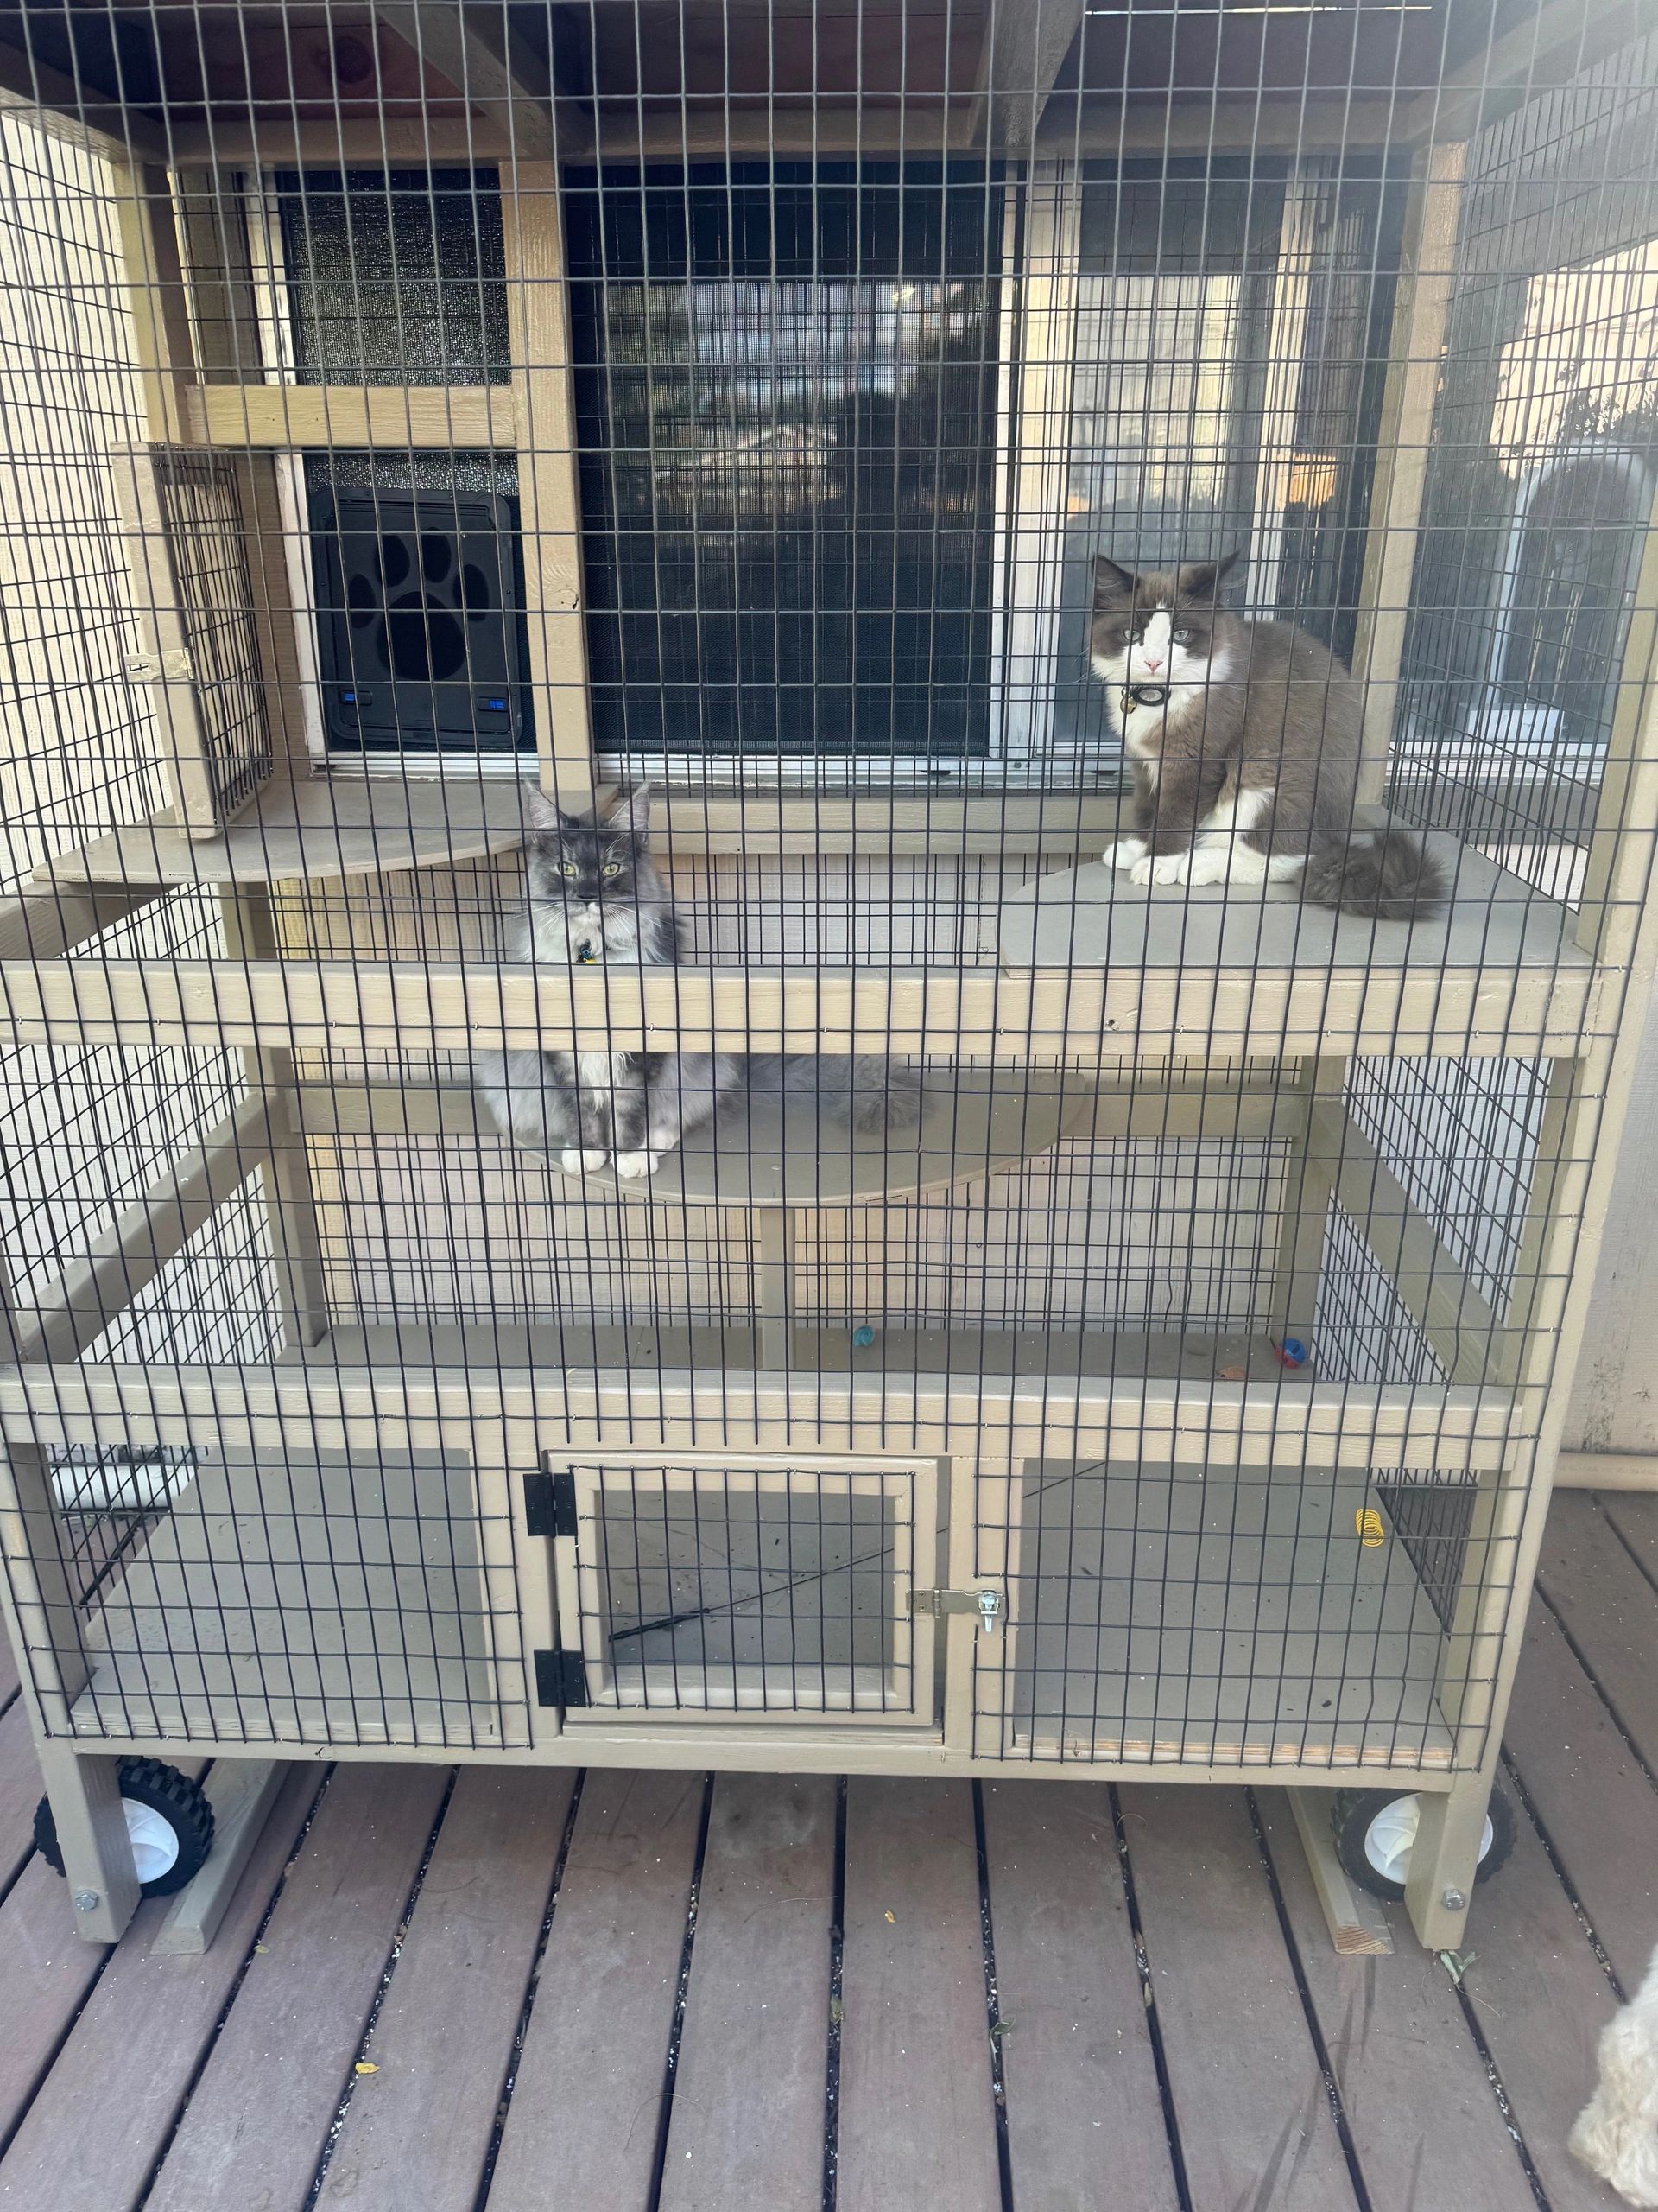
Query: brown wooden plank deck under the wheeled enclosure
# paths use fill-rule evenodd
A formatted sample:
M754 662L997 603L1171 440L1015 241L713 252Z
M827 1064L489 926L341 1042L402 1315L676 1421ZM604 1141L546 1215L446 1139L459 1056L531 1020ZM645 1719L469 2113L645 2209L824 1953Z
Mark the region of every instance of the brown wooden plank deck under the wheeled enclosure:
M11 1683L7 1681L7 1688ZM1563 1498L1461 1986L1280 1792L292 1770L203 1960L80 1944L0 1717L4 2212L1612 2212L1658 1498Z

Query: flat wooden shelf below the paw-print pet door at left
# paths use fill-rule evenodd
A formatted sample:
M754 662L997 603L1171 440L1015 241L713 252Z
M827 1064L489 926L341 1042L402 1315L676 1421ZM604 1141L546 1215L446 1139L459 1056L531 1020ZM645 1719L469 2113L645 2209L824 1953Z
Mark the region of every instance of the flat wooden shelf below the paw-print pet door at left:
M155 814L57 854L44 883L287 883L453 867L524 841L517 776L303 776L265 783L219 834L186 836Z

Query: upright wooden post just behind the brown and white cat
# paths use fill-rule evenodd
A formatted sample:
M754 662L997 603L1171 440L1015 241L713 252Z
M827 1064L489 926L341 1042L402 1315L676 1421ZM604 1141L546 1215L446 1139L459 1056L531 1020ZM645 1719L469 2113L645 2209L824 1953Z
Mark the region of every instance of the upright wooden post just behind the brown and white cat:
M1410 577L1428 489L1428 440L1455 290L1466 153L1466 146L1428 146L1419 153L1406 210L1353 648L1353 672L1364 684L1362 805L1382 799L1399 710Z

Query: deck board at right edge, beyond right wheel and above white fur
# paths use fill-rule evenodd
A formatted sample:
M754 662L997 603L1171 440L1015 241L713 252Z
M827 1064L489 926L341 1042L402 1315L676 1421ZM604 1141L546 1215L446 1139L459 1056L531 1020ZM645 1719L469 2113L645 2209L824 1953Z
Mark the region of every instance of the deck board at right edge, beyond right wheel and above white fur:
M1525 1626L1508 1750L1614 1973L1636 1989L1658 1944L1658 1790L1541 1606Z

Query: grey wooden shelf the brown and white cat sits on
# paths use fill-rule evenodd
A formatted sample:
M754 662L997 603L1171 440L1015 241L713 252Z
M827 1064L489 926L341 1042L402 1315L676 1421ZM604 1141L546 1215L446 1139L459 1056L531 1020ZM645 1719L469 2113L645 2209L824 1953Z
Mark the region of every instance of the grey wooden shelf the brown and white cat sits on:
M1386 816L1362 807L1360 821ZM1532 891L1452 836L1428 836L1452 900L1419 922L1364 922L1309 907L1293 885L1136 885L1092 860L1010 891L979 953L1001 967L1227 971L1592 969L1567 907Z

